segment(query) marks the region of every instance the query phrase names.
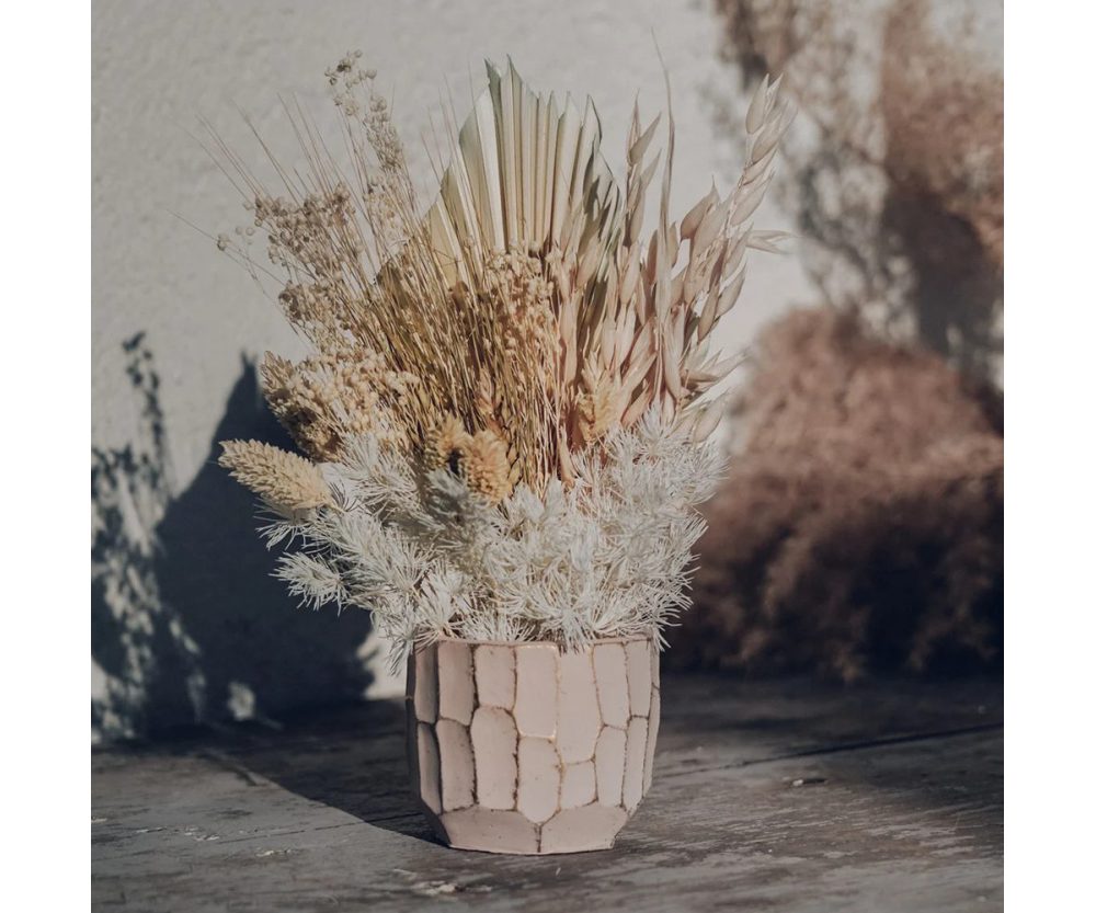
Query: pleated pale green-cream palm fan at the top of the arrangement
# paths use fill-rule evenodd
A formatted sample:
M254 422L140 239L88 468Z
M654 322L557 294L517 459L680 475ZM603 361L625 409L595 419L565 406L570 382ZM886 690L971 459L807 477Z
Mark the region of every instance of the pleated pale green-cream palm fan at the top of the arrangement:
M557 290L573 289L553 303L558 344L544 365L553 381L573 381L579 333L590 329L580 328L579 313L605 305L604 279L620 237L620 192L601 152L592 101L580 114L570 96L557 103L555 95L535 94L512 62L504 72L488 64L487 71L488 89L453 144L427 216L431 243L455 285L475 286L469 260L516 254L544 264ZM566 380L557 392L573 395ZM548 450L556 465L548 468L570 478L567 404L557 399L550 409L558 434Z

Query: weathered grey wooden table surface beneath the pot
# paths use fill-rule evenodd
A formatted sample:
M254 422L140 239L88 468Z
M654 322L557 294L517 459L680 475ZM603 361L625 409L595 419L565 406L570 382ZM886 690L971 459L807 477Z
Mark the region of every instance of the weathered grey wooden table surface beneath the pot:
M664 676L654 785L614 849L434 843L402 703L92 753L96 910L1002 908L1000 681Z

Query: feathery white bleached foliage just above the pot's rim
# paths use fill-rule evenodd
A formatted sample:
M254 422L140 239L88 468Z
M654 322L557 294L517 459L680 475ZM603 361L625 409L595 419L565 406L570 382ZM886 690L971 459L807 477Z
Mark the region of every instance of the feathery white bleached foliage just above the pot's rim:
M654 634L687 604L696 505L720 458L670 432L655 413L575 459L575 481L540 495L518 484L498 504L459 477L416 478L372 435L328 467L335 506L274 541L299 537L278 577L312 606L368 606L398 646L415 640L556 640Z

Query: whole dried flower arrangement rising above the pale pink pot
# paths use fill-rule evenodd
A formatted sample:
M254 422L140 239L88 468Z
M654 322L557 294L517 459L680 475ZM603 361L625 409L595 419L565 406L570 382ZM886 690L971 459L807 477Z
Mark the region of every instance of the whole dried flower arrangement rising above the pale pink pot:
M438 638L660 638L686 604L696 511L721 467L705 397L737 364L712 351L735 304L752 228L792 117L778 81L750 106L749 161L670 219L674 129L661 153L635 111L623 187L593 104L529 90L513 66L465 124L446 115L448 167L420 208L376 73L328 72L350 164L293 113L304 174L281 195L224 144L271 267L219 247L278 303L311 355L262 364L271 409L302 456L226 442L221 464L262 500L278 575L305 603L373 613L398 661ZM250 229L249 229L250 231ZM241 232L246 238L249 231Z

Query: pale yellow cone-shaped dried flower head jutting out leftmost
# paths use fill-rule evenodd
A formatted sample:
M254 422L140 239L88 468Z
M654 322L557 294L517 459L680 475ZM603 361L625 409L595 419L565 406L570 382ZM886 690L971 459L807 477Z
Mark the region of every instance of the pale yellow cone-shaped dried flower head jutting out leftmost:
M221 447L218 463L270 504L307 511L333 503L319 467L304 457L260 441L222 441Z

